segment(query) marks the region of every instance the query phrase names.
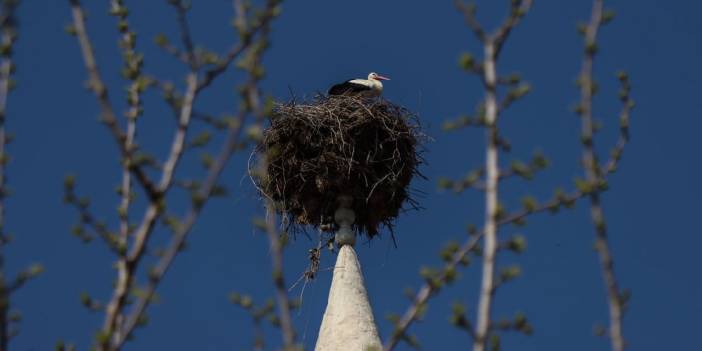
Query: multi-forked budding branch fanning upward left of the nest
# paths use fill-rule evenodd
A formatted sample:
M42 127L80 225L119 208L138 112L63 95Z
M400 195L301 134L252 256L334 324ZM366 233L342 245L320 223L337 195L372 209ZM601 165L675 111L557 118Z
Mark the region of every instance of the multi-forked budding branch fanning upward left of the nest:
M241 28L242 33L246 34L244 35L246 40L242 40L239 44L237 44L237 46L235 46L236 49L228 54L227 59L223 61L220 66L207 71L202 79L199 79L198 77L200 65L198 63L195 46L187 23L187 5L181 2L173 3L177 10L177 19L181 29L181 39L188 55L187 64L190 68L190 72L186 76L186 89L184 96L178 101L177 106L175 104L173 105L174 108L177 107L178 109L177 127L171 142L170 152L160 169L160 180L157 184L154 184L146 177L142 169L139 167L140 165L135 164L135 162L132 160L132 155L135 151L133 150L135 145L134 138L136 136L135 121L136 117L141 113L139 93L145 88L145 85L149 84L148 82L151 80L141 75L140 67L142 58L140 55L134 52L135 36L129 29L129 24L127 22L126 17L128 11L124 7L121 0L111 1L111 12L119 17L118 28L122 34L120 46L123 48L123 54L125 57L124 72L126 72L125 75L127 78L132 81L130 88L128 89L130 109L126 113L127 132L124 133L119 127L117 117L108 98L107 88L102 82L98 72L92 45L85 28L85 18L80 2L79 0L70 0L74 18L75 34L78 36L83 53L83 59L90 77L91 90L94 91L98 102L100 103L103 121L109 127L110 131L115 137L115 140L120 146L122 157L124 158L123 180L121 185L122 200L120 203L121 235L119 245L120 250L118 250L119 259L117 262L118 276L112 298L107 304L105 310L105 321L102 331L97 338L97 346L100 350L112 351L121 349L128 336L131 335L135 327L139 324L140 319L143 317L143 314L148 307L153 294L155 293L158 283L165 275L177 253L182 248L185 238L197 219L203 205L216 189L217 180L223 171L224 166L229 160L231 154L240 146L239 135L244 123L246 112L242 113L238 117L238 120L236 121L237 123L232 123L230 125L229 133L220 155L218 156L216 162L209 168L209 173L204 184L193 194L191 209L186 213L181 223L175 229L175 235L167 250L161 256L157 266L149 272L149 282L146 292L140 294L141 296L137 296L137 303L135 307L132 309L129 315L125 315L124 309L126 308L129 293L135 284L136 272L141 266L141 261L144 254L147 252L148 242L155 228L155 224L164 213L166 205L165 195L168 193L174 182L178 163L182 159L183 153L186 149L186 136L191 119L193 118L193 105L196 97L198 93L207 87L216 76L222 73L227 66L239 56L239 54L245 52L246 50L251 50L252 47L256 47L256 50L251 52L249 59L252 60L251 62L260 64L260 56L264 51L262 49L265 48L265 44L263 43L267 41L268 26L271 20L277 15L277 3L278 1L274 0L269 0L266 2L265 11L262 12L262 15L256 18L256 25L253 27ZM244 16L246 15L247 14L244 14ZM258 39L254 39L255 34L259 32L264 34L262 34ZM247 86L249 86L250 91L255 92L256 96L245 97L243 102L247 106L247 109L244 109L243 111L251 111L252 103L249 100L258 98L257 82L261 76L256 74L256 72L257 70L260 70L260 68L258 68L257 65L253 65L251 68L252 70L249 73L252 79L247 83ZM256 70L253 70L254 68ZM257 123L260 123L260 121ZM129 230L130 225L127 216L131 187L131 178L127 170L131 171L142 186L144 186L149 201L147 208L144 211L141 223L135 229L133 236ZM132 237L133 240L131 240L131 245L129 245L129 238Z

